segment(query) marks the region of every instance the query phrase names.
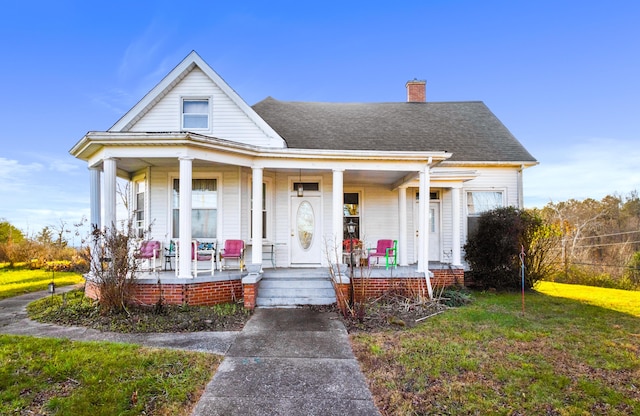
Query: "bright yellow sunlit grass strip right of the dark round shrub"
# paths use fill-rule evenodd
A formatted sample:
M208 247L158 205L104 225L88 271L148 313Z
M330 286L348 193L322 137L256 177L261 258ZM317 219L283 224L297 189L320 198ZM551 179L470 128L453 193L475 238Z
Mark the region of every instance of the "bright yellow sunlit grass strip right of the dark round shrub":
M536 291L640 317L640 292L540 281Z

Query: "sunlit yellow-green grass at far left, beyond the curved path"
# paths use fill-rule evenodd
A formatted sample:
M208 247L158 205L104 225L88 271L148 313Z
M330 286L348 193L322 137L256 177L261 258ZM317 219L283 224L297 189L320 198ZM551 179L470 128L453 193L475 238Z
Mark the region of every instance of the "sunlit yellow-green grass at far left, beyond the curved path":
M44 269L0 268L0 299L47 290L52 278L56 286L84 282L82 275L75 272L55 272L54 275L51 271Z

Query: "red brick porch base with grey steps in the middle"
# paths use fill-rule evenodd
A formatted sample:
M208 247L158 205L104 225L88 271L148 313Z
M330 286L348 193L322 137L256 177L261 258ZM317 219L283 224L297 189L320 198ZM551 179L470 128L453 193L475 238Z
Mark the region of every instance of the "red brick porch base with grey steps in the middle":
M224 270L213 276L206 274L189 279L177 278L167 270L143 271L136 279L135 301L140 305L159 302L182 305L215 305L243 302L248 309L255 307L291 307L297 305L326 305L379 297L390 291L429 297L433 288L461 285L464 271L449 264L433 264L430 273L416 271L415 266L354 267L339 266L334 273L328 267L270 268L261 273L251 270ZM87 281L86 293L97 298L97 287Z

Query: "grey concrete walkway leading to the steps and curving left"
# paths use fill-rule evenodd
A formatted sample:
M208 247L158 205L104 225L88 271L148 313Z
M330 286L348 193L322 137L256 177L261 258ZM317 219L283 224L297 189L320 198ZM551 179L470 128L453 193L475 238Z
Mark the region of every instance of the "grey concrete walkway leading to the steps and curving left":
M0 333L224 354L192 416L380 414L335 313L257 309L241 332L118 334L31 321L26 305L46 295L1 300Z

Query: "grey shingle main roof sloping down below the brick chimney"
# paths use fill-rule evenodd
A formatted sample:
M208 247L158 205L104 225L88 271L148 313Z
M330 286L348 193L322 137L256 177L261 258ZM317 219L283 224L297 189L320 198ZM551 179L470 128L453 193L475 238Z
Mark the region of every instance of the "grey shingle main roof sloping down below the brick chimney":
M535 162L479 101L317 103L268 97L253 109L289 148L447 151L452 161Z

